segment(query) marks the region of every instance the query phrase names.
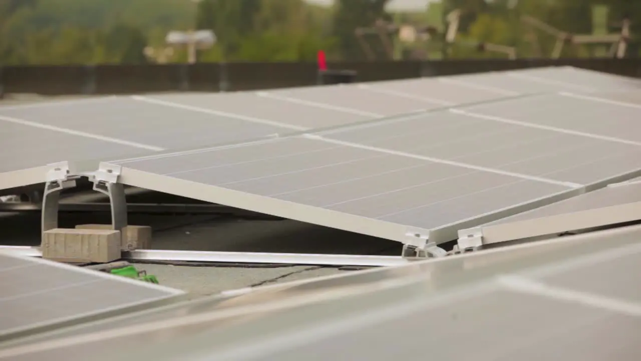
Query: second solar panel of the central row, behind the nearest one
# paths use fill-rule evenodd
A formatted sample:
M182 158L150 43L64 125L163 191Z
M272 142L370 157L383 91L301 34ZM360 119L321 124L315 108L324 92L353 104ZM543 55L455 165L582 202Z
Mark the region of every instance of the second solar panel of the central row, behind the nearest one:
M545 95L499 101L496 109L514 103L547 98ZM537 102L539 105L540 102ZM488 107L489 105L478 105ZM328 141L358 143L418 157L429 157L479 168L492 168L531 177L592 186L641 168L637 142L606 136L530 127L530 123L497 121L475 116L476 106L464 111L449 109L412 119L387 121L317 132ZM536 110L533 110L536 111ZM515 110L515 113L517 111ZM592 119L592 123L604 123ZM553 122L553 119L546 121ZM583 123L581 123L583 124Z

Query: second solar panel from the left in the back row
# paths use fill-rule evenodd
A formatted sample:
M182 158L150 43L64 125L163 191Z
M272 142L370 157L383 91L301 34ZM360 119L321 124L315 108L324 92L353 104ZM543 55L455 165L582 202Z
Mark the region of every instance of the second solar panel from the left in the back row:
M127 97L102 103L74 103L66 107L0 109L0 116L37 123L41 127L72 129L163 149L242 141L287 131L274 125L163 107ZM58 159L63 160L69 159Z

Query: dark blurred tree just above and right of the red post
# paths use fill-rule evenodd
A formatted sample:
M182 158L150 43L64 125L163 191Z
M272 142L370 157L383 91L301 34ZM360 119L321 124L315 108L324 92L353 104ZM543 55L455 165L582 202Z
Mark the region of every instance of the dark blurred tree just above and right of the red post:
M357 60L365 57L354 30L363 26L373 26L378 19L390 21L390 14L385 12L387 3L388 0L336 0L332 27L340 58ZM371 47L377 58L387 57L379 42L372 42Z

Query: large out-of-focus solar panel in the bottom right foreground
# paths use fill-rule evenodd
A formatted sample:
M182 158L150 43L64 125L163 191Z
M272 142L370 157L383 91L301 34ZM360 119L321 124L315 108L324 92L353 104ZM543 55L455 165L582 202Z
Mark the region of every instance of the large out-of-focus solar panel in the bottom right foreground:
M581 247L556 249L561 258L526 269L524 257L526 265L504 265L477 282L462 280L472 272L460 267L472 258L453 258L412 285L266 312L131 359L635 360L641 294L628 285L638 230L575 236L569 242ZM441 278L450 274L460 277L457 286L430 292L451 285Z

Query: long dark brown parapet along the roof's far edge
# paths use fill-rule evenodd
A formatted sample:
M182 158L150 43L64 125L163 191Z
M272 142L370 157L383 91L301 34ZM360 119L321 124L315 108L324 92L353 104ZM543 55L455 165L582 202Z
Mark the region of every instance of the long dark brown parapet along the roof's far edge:
M641 58L466 59L328 65L329 69L355 71L358 82L541 66L575 66L641 77ZM317 67L312 62L0 67L0 89L5 93L43 95L242 91L301 87L318 81Z

